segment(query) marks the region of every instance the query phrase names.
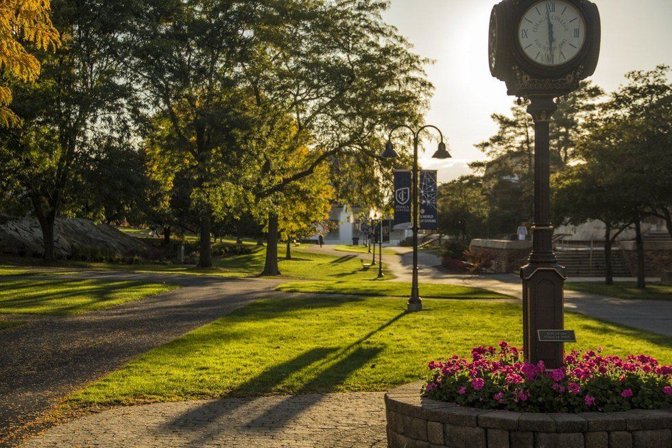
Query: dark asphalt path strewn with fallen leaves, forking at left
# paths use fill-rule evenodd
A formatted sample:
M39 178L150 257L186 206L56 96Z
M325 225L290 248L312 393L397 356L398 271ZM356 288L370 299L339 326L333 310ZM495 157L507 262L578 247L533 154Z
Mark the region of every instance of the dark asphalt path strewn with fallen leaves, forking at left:
M31 318L25 325L3 330L0 445L87 381L252 300L280 294L274 292L278 281L264 279L128 272L83 272L72 277L139 279L184 287L77 316Z

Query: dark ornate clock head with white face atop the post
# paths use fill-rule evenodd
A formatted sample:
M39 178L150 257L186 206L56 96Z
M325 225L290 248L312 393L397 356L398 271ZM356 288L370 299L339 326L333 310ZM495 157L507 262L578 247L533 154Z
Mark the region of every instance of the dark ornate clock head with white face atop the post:
M492 75L509 95L565 95L595 72L600 17L588 0L504 0L490 15Z

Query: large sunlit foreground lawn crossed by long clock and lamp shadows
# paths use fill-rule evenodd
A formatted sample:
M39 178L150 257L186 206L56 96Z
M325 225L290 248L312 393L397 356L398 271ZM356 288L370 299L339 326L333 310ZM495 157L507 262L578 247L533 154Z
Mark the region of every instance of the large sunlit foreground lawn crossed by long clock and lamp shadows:
M143 403L276 393L386 390L427 374L426 363L473 346L520 345L518 303L402 298L261 300L149 351L75 392L68 403ZM672 340L577 314L566 327L605 353L672 362Z

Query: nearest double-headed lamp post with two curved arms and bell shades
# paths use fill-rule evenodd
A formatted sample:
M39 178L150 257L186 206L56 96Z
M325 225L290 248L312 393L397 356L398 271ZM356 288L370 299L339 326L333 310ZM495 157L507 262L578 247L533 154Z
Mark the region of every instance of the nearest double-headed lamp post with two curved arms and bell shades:
M432 156L433 158L450 158L451 154L449 154L448 150L446 150L446 143L444 143L443 133L436 126L422 126L422 128L416 131L413 130L411 126L400 124L389 131L389 135L387 136L387 144L385 145L385 151L383 151L381 157L397 158L399 156L399 154L397 154L394 150L394 145L392 144L392 134L394 131L400 128L406 128L411 131L411 134L413 134L413 174L411 176L411 182L413 183L413 198L411 199L413 207L413 284L411 285L411 297L409 298L407 308L408 311L412 312L422 311L422 299L420 299L420 290L418 288L418 230L420 228L418 225L418 220L420 217L420 204L418 200L418 146L420 144L420 132L429 128L435 129L439 132L439 136L441 137L439 148Z

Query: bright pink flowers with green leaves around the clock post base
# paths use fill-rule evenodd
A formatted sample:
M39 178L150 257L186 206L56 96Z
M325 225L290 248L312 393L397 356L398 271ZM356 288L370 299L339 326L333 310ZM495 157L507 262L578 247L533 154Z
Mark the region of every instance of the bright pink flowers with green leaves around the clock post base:
M475 408L518 412L614 412L672 408L672 366L646 355L605 356L572 351L564 366L524 362L506 342L430 362L423 391L432 399Z

